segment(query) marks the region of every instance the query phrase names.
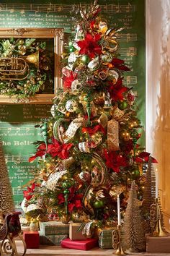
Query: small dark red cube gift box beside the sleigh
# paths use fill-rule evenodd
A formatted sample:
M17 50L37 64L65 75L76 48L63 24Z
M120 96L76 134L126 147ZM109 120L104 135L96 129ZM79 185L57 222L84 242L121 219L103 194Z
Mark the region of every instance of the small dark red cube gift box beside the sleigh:
M23 231L23 237L27 249L39 248L40 237L38 231Z

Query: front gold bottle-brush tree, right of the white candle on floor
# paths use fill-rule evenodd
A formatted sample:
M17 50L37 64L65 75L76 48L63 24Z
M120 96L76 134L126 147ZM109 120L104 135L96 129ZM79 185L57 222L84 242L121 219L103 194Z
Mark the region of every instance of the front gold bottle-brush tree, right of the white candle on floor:
M132 182L124 224L122 226L123 242L132 252L144 250L145 234L143 220L140 215L140 201L137 199L136 185Z

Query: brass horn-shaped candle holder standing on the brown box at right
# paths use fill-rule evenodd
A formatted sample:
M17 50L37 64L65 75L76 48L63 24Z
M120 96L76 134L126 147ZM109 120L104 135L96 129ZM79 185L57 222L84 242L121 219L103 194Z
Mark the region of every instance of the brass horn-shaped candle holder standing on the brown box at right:
M150 221L151 228L153 228L153 234L151 234L151 236L168 236L168 234L162 229L161 226L161 210L158 205L158 198L156 198L156 202L151 205Z

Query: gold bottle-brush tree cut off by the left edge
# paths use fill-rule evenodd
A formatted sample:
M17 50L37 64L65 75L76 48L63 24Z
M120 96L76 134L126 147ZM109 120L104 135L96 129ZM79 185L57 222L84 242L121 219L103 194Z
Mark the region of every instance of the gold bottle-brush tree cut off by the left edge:
M6 214L14 210L14 202L12 198L12 187L9 182L9 174L5 163L4 152L2 149L2 142L0 142L0 165L0 210L2 210L3 214Z

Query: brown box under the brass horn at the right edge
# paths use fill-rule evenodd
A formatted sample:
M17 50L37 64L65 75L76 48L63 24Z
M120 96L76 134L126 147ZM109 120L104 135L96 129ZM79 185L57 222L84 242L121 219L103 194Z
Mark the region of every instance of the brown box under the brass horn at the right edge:
M146 252L170 252L170 234L165 237L147 235Z

